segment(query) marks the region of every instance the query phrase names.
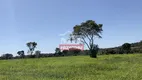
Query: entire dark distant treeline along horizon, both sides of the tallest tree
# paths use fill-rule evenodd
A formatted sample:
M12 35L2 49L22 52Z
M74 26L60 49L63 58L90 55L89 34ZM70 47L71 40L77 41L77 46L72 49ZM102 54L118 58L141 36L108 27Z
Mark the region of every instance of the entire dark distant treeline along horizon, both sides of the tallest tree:
M114 48L100 48L98 55L109 55L109 54L132 54L132 53L142 53L142 41L136 43L124 43L122 46ZM61 51L59 48L55 49L55 53L41 53L40 51L35 51L34 54L25 55L25 52L18 51L19 56L13 56L12 54L3 54L0 59L24 59L24 58L46 58L46 57L60 57L60 56L78 56L78 55L90 55L89 50L81 51L79 49L71 48L69 50Z

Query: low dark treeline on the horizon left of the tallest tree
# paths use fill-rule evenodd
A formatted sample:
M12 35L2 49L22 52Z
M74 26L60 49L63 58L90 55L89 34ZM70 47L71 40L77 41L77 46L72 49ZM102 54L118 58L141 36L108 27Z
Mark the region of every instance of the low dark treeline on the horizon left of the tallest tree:
M0 59L24 59L24 58L46 58L46 57L61 57L61 56L78 56L78 55L89 55L88 50L81 51L79 49L71 48L70 50L60 51L56 48L55 53L41 53L40 51L35 51L33 55L25 55L24 51L18 51L19 56L13 56L12 54L3 54Z

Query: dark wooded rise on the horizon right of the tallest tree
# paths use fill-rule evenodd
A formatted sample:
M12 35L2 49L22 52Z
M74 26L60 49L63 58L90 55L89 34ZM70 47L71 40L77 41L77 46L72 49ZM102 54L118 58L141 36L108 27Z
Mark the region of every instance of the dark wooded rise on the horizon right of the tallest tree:
M131 54L142 53L142 41L136 43L124 43L122 46L113 48L103 48L99 54Z

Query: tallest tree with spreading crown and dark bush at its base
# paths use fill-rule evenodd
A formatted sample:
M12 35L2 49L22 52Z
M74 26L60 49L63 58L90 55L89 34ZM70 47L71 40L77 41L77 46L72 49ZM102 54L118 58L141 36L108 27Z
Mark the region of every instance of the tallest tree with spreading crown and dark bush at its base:
M73 27L74 39L80 38L81 41L87 45L90 51L90 56L97 58L98 45L94 44L95 38L102 38L101 33L103 31L102 24L97 24L93 20L87 20Z

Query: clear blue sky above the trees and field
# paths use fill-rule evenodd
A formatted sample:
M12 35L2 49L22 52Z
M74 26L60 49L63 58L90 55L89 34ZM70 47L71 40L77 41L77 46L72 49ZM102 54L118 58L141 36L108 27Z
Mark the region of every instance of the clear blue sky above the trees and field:
M94 20L103 24L100 48L120 46L142 39L141 0L0 0L0 54L25 50L54 52L61 34L77 24Z

